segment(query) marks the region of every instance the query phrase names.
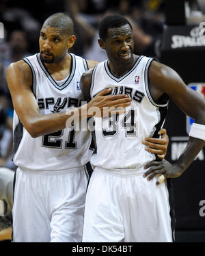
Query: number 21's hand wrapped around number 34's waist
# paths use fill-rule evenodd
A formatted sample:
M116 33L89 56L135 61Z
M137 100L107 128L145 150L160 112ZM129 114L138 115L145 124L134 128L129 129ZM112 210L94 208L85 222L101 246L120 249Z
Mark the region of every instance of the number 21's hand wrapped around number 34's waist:
M142 144L146 145L146 151L156 154L159 159L164 159L167 155L167 147L169 144L169 137L167 136L166 129L161 129L158 133L161 138L145 138Z

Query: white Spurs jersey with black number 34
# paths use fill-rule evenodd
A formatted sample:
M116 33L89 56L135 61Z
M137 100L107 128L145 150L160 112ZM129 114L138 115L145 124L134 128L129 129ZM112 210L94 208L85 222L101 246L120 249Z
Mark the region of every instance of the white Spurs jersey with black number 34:
M97 153L92 164L102 168L140 168L155 159L141 143L145 137L157 137L167 112L154 102L148 86L148 68L152 58L140 56L133 68L120 78L109 71L108 60L98 64L92 73L91 97L105 88L111 94L128 94L133 100L126 114L95 118Z

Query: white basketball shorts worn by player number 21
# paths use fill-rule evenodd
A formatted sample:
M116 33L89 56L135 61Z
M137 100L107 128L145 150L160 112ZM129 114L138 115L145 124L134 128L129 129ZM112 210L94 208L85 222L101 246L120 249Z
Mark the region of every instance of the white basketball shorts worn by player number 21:
M87 175L70 170L16 170L13 242L81 242Z

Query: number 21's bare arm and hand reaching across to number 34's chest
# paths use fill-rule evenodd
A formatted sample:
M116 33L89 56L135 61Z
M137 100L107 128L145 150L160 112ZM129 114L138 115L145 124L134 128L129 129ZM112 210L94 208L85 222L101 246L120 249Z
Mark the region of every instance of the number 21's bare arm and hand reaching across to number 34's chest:
M75 112L78 112L79 120L83 120L92 116L91 114L87 114L87 116L81 114L85 113L85 111L88 112L90 107L98 107L103 112L103 107L106 104L114 107L125 107L130 101L126 95L118 95L118 97L105 96L109 93L109 89L107 89L97 94L89 104L70 110L70 113L67 111L42 115L31 90L31 70L23 60L10 64L7 70L7 81L16 114L33 138L64 129L66 120L73 116Z

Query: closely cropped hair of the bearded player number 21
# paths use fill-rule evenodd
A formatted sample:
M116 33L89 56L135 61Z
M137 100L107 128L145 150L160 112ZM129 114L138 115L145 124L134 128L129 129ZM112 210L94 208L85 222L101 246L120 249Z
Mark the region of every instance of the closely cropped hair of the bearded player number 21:
M68 36L73 34L73 21L63 12L57 12L49 16L49 18L46 18L42 27L44 26L57 27L61 29L62 33L67 34Z

